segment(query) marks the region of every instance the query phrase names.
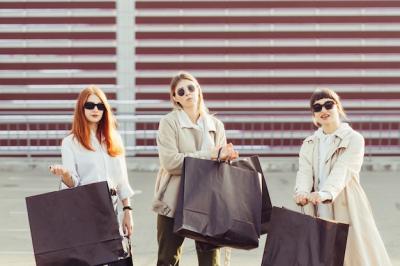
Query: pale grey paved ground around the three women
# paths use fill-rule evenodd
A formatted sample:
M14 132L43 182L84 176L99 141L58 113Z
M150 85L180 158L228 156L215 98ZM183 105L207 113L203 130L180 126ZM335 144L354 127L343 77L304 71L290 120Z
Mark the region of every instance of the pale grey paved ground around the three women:
M291 200L294 176L293 172L267 173L274 205L296 208ZM400 176L398 172L381 171L363 172L361 177L393 265L400 266ZM154 172L130 172L131 184L138 192L134 196L133 239L137 266L155 265L156 260L156 217L150 210L154 180ZM35 265L25 197L57 188L57 178L50 176L44 166L6 168L0 172L0 265ZM258 249L232 250L231 265L260 265L264 243L262 237ZM185 241L181 265L197 265L192 240Z

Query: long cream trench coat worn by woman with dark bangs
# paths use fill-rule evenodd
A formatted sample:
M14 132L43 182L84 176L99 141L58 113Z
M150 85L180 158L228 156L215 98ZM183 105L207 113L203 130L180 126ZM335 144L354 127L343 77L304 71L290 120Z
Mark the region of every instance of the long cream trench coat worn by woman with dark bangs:
M332 208L333 218L350 224L344 265L390 266L370 204L360 185L363 158L363 136L342 123L324 158L327 179L320 190L333 196L333 201L327 203ZM311 192L313 188L318 191L319 159L319 139L314 134L304 140L300 150L295 192ZM308 208L308 214L315 215L312 210L314 208Z

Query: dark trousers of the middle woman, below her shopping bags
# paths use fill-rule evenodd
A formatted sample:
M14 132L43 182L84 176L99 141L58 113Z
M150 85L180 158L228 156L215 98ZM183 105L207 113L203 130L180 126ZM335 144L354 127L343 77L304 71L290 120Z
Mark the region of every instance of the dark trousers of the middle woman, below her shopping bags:
M185 239L174 234L174 219L163 215L157 216L158 259L157 266L178 266L182 255L182 244ZM219 266L220 250L203 251L196 241L196 252L199 266Z

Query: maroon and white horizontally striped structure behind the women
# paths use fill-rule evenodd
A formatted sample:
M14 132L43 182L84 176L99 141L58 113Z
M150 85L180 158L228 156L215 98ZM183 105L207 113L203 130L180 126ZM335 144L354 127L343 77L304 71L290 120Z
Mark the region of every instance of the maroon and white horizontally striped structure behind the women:
M58 154L73 99L91 83L135 138L128 154L154 155L179 70L198 77L242 154L296 155L314 130L307 99L330 87L369 155L400 155L400 1L136 1L126 101L116 101L115 1L0 2L0 11L1 155ZM135 112L118 111L126 104Z

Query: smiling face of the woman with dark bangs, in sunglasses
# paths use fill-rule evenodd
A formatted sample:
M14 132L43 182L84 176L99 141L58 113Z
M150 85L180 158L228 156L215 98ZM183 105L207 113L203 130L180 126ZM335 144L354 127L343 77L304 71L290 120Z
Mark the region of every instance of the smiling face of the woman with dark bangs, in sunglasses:
M312 109L315 121L321 126L340 121L337 105L335 101L330 98L323 98L315 101Z

